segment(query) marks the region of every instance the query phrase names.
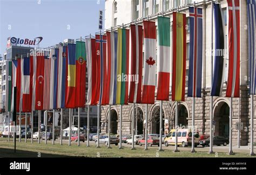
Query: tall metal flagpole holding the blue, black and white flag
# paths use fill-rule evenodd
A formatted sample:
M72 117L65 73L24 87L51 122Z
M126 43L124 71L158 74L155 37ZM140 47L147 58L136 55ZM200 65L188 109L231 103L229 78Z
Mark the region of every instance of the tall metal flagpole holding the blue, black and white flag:
M213 2L212 2L212 51L213 51ZM211 57L211 83L213 81L213 54ZM214 153L212 150L213 147L213 128L212 128L212 121L213 121L213 96L210 96L210 151L209 153Z

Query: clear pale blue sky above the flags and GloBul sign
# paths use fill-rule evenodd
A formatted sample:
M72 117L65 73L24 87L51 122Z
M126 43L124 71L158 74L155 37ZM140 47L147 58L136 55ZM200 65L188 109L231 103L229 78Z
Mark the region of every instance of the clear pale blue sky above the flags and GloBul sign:
M0 54L8 37L43 37L40 47L48 47L94 35L104 7L105 0L0 0Z

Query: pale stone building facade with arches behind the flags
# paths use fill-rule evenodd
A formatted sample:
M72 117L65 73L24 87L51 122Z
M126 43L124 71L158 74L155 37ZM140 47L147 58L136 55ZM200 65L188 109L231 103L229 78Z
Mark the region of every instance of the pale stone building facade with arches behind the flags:
M225 46L228 48L228 12L227 1L218 1L223 9L225 23ZM105 30L117 27L127 27L131 22L142 24L144 19L154 20L157 25L157 16L163 15L171 18L173 11L186 13L187 29L190 25L188 22L188 7L196 5L203 8L203 79L202 79L202 97L196 98L195 107L195 127L200 135L210 135L210 91L211 91L211 53L212 53L212 8L211 2L206 0L105 0ZM230 117L230 98L225 97L228 71L228 54L226 54L226 68L224 78L224 89L222 97L213 97L213 134L229 137L230 127L232 127L233 144L237 144L238 130L236 125L242 123L241 145L250 144L250 96L248 95L248 57L247 57L247 9L246 0L240 1L240 95L241 98L233 98L233 122L229 124ZM214 24L213 24L214 26ZM172 31L171 31L172 36ZM213 33L214 37L214 33ZM190 33L187 30L187 52L189 51ZM172 43L172 42L171 42ZM172 46L171 46L172 48ZM172 54L171 54L172 55ZM170 58L171 59L171 58ZM186 81L188 75L188 54L186 61ZM145 59L144 59L145 60ZM157 77L156 77L157 78ZM157 81L156 81L157 82ZM171 88L170 88L171 89ZM187 87L185 93L185 102L178 103L178 124L181 126L191 127L192 125L192 98L187 97ZM256 98L254 98L256 100ZM149 105L147 114L148 133L159 134L160 129L160 102ZM167 133L174 128L175 123L175 102L170 100L163 102L164 121L162 131ZM254 106L255 108L255 106ZM132 128L132 104L123 106L123 134L131 134ZM136 108L136 128L137 134L145 133L145 104L137 104ZM254 110L255 111L255 110ZM109 117L109 106L102 107L101 126L102 132L107 132L107 121ZM255 118L255 114L254 114ZM255 120L255 119L254 119ZM111 132L119 132L120 106L111 106ZM256 127L254 122L254 128ZM256 138L254 134L254 139Z

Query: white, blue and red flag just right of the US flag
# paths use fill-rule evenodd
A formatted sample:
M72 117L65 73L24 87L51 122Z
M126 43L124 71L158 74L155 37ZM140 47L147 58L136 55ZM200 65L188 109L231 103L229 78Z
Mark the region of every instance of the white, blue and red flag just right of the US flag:
M48 64L45 65L45 71L48 70L50 72L50 88L49 93L48 90L45 91L45 99L49 99L49 106L48 106L48 100L46 100L45 104L47 107L45 109L57 109L57 89L58 89L58 48L52 48L50 50L50 68L48 67ZM45 62L46 63L46 62ZM45 76L45 78L48 76ZM46 81L45 79L45 82ZM49 94L49 95L48 95Z

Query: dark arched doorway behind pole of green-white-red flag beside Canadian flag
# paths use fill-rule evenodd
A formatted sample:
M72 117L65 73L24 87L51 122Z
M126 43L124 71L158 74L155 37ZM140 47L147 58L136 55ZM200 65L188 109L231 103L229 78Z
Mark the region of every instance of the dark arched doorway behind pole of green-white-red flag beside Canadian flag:
M164 112L163 112L163 118L164 118ZM156 106L153 108L151 117L150 117L150 123L151 123L151 134L160 134L160 106ZM164 121L162 121L162 129L164 131Z

